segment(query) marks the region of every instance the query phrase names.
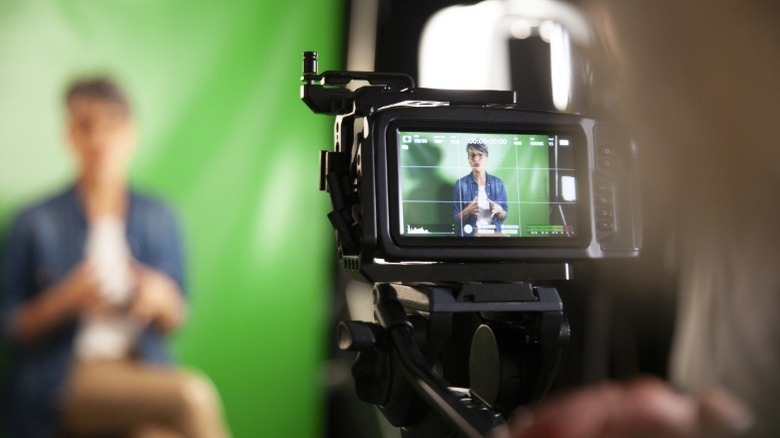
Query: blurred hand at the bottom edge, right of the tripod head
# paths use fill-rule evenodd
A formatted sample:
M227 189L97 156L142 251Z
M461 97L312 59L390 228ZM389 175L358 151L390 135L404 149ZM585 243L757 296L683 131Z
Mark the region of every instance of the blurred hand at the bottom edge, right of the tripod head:
M752 424L731 396L684 395L658 379L603 383L573 391L536 411L520 413L512 438L731 437Z

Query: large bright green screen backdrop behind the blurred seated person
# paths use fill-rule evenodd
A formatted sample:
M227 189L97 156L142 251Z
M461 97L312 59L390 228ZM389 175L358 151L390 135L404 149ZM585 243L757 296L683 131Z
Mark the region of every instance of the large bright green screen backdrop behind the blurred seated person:
M0 2L0 231L72 179L65 85L118 79L140 131L133 184L185 234L190 319L172 347L215 382L237 437L321 435L332 128L298 81L303 50L339 67L342 15L338 0Z

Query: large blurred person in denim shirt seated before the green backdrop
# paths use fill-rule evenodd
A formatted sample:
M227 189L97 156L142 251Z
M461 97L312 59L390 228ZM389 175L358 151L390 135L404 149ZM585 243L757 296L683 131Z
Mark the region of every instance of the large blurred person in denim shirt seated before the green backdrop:
M225 436L213 385L165 365L164 337L185 319L179 231L127 185L130 104L105 78L65 103L76 181L7 239L2 423L9 436Z

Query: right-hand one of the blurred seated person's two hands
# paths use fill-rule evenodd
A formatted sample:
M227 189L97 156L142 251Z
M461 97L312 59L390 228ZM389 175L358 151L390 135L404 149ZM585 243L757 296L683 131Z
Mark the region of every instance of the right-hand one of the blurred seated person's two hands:
M164 273L136 263L136 290L130 316L142 324L171 330L184 321L184 300L176 283Z

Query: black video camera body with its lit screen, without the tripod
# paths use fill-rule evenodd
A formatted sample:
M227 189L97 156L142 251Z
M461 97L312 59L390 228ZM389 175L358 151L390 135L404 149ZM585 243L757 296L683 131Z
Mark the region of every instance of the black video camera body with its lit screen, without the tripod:
M638 254L637 151L621 127L523 110L513 92L347 93L341 112L329 108L335 148L320 166L346 270L369 282L523 281ZM459 217L478 201L472 150L501 186L486 205L499 204L501 219Z

